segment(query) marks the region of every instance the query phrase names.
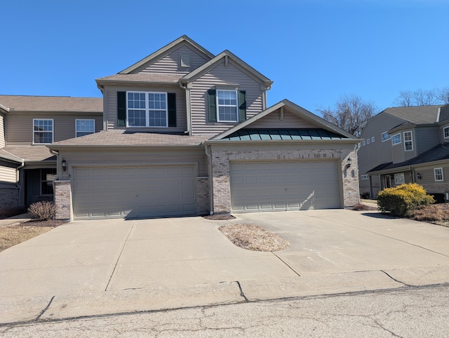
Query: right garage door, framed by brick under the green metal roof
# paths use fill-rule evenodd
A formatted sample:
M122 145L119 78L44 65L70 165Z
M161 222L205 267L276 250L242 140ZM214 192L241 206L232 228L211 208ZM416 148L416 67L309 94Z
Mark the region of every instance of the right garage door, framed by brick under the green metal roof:
M234 212L340 208L337 161L231 163Z

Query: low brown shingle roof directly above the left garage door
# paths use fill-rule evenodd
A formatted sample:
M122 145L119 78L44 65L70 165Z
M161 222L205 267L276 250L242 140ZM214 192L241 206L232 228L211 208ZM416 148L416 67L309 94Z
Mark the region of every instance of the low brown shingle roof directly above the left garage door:
M210 136L170 135L156 133L133 132L129 130L102 131L83 137L55 142L48 147L123 147L123 146L196 146L208 140Z

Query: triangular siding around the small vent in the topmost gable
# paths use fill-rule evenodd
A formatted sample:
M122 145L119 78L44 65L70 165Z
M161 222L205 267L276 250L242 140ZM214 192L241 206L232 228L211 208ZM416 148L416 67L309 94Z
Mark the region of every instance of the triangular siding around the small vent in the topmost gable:
M180 67L180 55L190 55L190 67ZM142 73L175 73L175 74L188 74L194 69L200 67L205 62L205 58L196 53L192 48L188 46L181 46L176 50L173 50L170 54L149 65L147 68L142 69Z

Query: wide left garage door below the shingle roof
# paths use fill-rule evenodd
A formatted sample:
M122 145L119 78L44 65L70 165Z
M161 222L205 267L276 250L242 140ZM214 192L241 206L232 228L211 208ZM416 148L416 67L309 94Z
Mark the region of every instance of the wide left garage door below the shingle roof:
M74 168L74 217L194 215L193 166Z

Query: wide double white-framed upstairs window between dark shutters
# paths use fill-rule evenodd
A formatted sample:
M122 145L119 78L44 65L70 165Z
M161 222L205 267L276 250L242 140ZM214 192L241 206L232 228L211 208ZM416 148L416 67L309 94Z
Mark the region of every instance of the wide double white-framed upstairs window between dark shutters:
M168 127L167 93L128 92L127 121L130 127Z

